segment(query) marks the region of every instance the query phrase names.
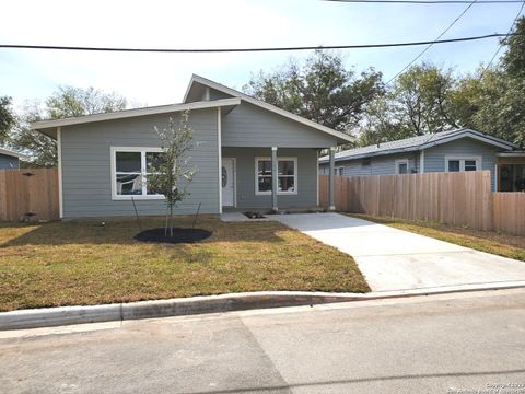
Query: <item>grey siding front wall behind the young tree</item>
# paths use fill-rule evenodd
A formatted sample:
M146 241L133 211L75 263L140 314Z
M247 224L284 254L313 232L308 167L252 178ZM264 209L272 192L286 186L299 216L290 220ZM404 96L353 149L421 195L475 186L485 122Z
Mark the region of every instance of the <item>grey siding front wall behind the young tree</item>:
M178 116L172 115L175 121ZM110 147L160 147L154 126L166 127L168 115L151 115L62 127L63 217L132 216L130 200L112 200ZM190 196L177 213L219 212L219 152L217 108L194 111L189 123L198 147L190 152L197 174ZM139 215L164 215L164 200L137 200Z

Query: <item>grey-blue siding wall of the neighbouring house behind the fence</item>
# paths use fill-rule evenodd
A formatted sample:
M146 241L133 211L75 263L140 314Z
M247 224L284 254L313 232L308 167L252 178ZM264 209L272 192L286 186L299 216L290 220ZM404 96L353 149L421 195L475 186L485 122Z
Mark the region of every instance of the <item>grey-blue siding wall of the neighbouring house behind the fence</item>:
M343 167L343 175L393 175L396 173L396 160L408 159L409 172L419 172L419 152L369 158L370 165L362 165L364 159L336 161L336 167ZM329 164L319 165L319 173L328 175Z

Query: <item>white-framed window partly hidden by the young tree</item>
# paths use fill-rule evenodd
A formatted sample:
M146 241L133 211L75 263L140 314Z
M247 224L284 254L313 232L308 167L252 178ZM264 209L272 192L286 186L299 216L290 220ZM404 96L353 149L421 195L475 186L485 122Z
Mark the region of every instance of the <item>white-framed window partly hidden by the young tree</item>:
M161 152L161 148L112 148L112 198L163 199L148 187L148 169Z

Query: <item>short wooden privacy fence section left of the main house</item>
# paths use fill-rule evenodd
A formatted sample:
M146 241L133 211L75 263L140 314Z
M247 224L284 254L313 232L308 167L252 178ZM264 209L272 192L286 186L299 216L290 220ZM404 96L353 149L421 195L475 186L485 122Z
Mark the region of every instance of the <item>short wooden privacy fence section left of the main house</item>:
M1 170L0 220L54 220L59 217L56 169Z

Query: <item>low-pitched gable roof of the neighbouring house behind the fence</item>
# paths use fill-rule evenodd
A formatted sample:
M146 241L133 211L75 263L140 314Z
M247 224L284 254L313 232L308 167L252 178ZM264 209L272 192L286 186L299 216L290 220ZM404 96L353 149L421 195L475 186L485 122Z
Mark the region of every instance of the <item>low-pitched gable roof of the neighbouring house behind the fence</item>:
M385 154L419 151L422 149L432 148L438 144L451 142L456 139L466 138L466 137L479 140L481 142L485 142L501 149L513 150L517 148L517 146L515 146L514 143L502 140L501 138L489 136L472 129L462 128L462 129L441 131L435 134L427 134L423 136L406 138L402 140L382 142L382 143L372 144L368 147L345 150L336 153L336 161L354 160L354 159L362 159L362 158L370 158L370 157L377 157L377 155L385 155ZM319 162L326 162L328 160L329 158L327 155L319 158Z

